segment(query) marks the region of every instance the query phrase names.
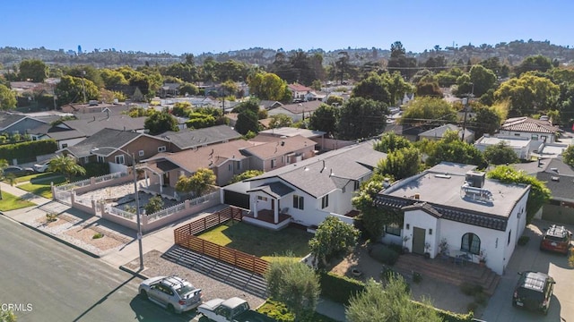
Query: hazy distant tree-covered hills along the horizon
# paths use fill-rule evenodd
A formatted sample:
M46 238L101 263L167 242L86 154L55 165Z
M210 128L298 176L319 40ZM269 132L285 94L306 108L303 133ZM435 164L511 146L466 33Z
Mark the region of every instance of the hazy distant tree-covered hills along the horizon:
M390 47L390 44L389 44ZM408 49L408 48L406 48ZM225 62L233 59L248 64L259 64L266 66L272 64L277 53L283 52L289 55L291 52L284 52L283 49L268 49L262 47L233 50L227 53L204 53L196 55L196 64L203 64L204 59L213 57L218 62ZM339 53L346 52L349 55L351 64L366 64L387 59L390 50L381 48L344 48L333 51L322 49L309 50L308 55L316 53L323 55L323 63L333 64L339 57ZM466 45L462 47L436 47L425 50L422 53L408 52L408 56L415 57L419 62L425 62L430 57L442 55L448 63L481 61L490 57L499 57L501 63L516 65L530 55L544 55L552 60L556 59L561 64L572 64L574 62L574 48L552 45L550 41L528 41L515 40L509 43L501 42L494 46L483 44L478 47ZM185 55L171 55L168 53L143 53L134 51L117 51L115 49L94 50L90 53L77 55L74 51L51 50L44 47L23 49L17 47L0 47L0 64L4 69L9 69L14 64L19 64L24 59L40 59L47 64L53 65L75 65L91 64L97 68L129 65L132 67L149 65L168 65L185 60Z

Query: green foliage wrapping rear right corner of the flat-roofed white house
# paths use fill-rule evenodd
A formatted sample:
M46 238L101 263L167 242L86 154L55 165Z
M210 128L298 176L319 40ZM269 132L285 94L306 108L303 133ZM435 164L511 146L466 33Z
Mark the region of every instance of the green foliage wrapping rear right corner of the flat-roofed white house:
M530 193L526 200L526 223L530 223L535 214L550 199L551 191L544 182L536 179L535 176L528 175L524 170L517 171L511 165L498 165L486 176L490 179L500 180L503 183L522 183L530 185Z

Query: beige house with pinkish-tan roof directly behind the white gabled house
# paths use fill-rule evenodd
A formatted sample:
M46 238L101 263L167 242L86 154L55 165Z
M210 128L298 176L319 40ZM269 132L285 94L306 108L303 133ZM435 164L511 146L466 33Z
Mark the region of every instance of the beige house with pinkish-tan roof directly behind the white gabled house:
M299 162L315 155L314 140L300 135L289 138L273 138L256 146L243 148L242 153L251 157L251 169L271 171L273 169ZM257 141L257 137L251 141Z

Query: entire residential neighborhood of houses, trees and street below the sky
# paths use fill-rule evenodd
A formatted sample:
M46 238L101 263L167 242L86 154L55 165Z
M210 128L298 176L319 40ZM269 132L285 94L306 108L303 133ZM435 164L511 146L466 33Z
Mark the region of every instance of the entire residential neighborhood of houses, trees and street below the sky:
M0 321L568 320L572 59L450 51L0 64Z

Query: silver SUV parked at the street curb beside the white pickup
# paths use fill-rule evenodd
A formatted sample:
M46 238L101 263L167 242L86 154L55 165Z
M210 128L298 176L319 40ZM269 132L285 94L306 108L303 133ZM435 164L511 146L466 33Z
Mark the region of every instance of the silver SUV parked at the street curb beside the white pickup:
M148 278L140 284L138 292L175 313L196 309L202 303L201 289L178 276Z

